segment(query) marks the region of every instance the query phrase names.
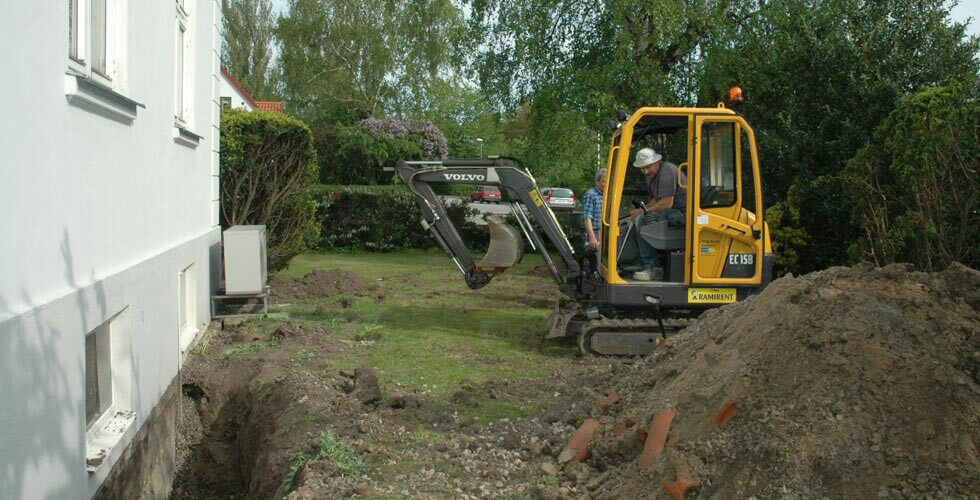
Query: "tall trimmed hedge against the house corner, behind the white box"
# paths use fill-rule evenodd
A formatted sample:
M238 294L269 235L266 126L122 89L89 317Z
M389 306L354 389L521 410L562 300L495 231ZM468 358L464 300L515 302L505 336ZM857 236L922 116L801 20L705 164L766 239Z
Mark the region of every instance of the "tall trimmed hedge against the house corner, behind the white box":
M265 225L271 271L315 245L318 170L306 124L279 113L223 112L220 168L221 226Z

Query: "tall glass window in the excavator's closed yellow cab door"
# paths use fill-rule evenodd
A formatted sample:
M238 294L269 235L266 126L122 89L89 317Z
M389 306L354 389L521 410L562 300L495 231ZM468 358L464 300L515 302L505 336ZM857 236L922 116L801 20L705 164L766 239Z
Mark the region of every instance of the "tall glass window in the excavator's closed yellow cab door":
M701 129L701 208L737 201L736 147L734 123L707 123Z

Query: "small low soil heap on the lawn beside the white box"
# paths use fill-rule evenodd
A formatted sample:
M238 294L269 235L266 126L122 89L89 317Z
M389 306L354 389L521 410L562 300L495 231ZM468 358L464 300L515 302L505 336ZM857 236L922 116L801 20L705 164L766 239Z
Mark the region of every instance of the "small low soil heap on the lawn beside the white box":
M377 290L374 283L341 269L311 271L302 279L272 276L269 278L272 300L284 303L311 300L338 295L372 295Z

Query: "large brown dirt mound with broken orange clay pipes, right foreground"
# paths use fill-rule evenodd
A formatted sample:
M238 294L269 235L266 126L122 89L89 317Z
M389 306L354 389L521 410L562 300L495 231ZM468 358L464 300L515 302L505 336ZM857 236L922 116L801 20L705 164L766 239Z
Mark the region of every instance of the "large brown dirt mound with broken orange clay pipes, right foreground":
M777 280L597 387L619 401L580 414L600 421L588 495L976 497L978 329L980 272L960 265ZM641 468L637 435L665 425Z

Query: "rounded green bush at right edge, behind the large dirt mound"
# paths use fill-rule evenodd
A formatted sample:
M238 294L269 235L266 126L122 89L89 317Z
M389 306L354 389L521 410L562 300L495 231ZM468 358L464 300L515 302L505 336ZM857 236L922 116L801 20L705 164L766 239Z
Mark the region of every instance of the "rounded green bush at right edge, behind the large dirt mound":
M851 251L876 264L980 267L980 101L960 83L906 99L848 163Z

